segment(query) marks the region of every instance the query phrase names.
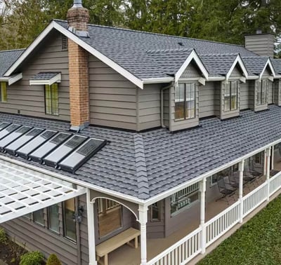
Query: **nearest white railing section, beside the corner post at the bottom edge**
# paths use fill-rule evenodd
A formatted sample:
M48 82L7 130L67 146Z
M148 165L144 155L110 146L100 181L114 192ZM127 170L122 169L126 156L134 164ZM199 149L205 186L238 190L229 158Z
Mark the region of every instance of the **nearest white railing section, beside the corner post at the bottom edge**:
M176 244L167 248L164 252L148 261L147 265L179 265L186 264L190 259L201 252L200 234L201 228L179 240Z

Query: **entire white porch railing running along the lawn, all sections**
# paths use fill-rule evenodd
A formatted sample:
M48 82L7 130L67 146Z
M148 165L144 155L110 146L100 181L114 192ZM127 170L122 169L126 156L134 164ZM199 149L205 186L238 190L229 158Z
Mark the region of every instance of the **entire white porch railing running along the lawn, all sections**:
M269 185L269 189L268 189ZM202 251L202 245L207 247L214 243L218 238L223 236L224 233L229 231L235 224L240 222L240 209L243 206L243 217L249 215L251 211L258 208L261 203L266 201L269 195L273 195L281 188L281 172L277 173L274 177L269 179L258 186L254 191L251 191L237 201L226 210L216 215L204 224L203 229L206 229L205 244L201 242L202 227L200 226L192 233L179 240L177 243L166 249L164 252L157 255L157 257L148 261L148 265L178 265L187 264L188 261L193 259L197 254Z

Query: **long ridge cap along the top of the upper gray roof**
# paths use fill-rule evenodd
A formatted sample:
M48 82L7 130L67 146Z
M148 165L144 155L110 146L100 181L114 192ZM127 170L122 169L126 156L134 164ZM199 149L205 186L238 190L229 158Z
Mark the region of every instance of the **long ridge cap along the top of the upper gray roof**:
M57 19L53 19L54 21L60 21L60 22L67 22L66 20L57 20ZM169 37L174 37L177 39L191 39L191 40L195 40L195 41L204 41L204 42L211 42L211 43L221 43L221 44L225 44L225 45L231 45L231 46L238 46L238 47L244 47L243 45L239 45L239 44L234 44L234 43L226 43L226 42L221 42L221 41L209 41L207 39L196 39L196 38L190 38L190 37L184 37L184 36L175 36L175 35L169 35L169 34L163 34L163 33L155 33L155 32L145 32L142 30L136 30L136 29L125 29L122 27L110 27L110 26L105 26L105 25L95 25L95 24L88 24L89 26L92 27L105 27L108 29L119 29L119 30L124 30L127 32L141 32L141 33L145 33L145 34L152 34L152 35L159 35L159 36L169 36Z

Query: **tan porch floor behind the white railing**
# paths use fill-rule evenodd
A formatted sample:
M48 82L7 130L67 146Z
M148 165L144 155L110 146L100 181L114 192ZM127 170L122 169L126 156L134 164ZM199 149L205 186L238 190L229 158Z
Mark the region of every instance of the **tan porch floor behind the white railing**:
M275 170L281 170L281 162L274 166ZM252 190L256 189L257 186L265 182L266 177L263 176L260 179L252 182L251 184L246 184L243 189L243 196ZM211 201L206 205L206 213L205 213L205 221L207 222L209 219L218 215L218 213L222 212L230 205L235 203L238 199L238 191L235 192L233 196L228 198L228 202L218 200ZM175 233L172 233L170 236L166 238L157 238L157 239L148 239L148 261L153 257L157 256L157 254L163 252L168 247L176 243L178 240L183 238L183 235L188 235L188 233L194 231L198 228L200 224L200 220L197 219L194 222L189 222L188 225L179 229ZM117 250L111 252L108 255L109 264L110 265L139 265L141 261L141 247L139 246L137 249L129 247L129 245L123 245L119 247Z

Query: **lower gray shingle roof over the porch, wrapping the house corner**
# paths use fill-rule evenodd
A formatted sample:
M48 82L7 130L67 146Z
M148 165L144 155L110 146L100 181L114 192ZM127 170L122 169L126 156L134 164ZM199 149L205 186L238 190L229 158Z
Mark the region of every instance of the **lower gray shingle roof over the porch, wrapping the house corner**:
M281 139L281 108L242 111L226 121L209 118L200 127L176 133L161 128L150 132L124 132L90 126L81 134L110 141L77 170L75 175L32 163L136 198L150 198L209 170ZM68 130L69 123L0 114L0 121ZM8 154L3 154L8 156Z

